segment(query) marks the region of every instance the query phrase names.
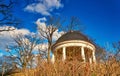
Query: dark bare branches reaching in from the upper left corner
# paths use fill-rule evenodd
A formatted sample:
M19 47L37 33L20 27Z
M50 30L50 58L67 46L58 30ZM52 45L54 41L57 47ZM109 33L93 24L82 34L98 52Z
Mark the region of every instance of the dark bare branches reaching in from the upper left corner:
M8 26L8 28L0 29L0 32L2 31L12 31L14 29L11 29L12 26L18 26L20 24L20 20L15 18L15 16L12 13L12 8L15 4L15 1L13 0L0 0L0 26Z

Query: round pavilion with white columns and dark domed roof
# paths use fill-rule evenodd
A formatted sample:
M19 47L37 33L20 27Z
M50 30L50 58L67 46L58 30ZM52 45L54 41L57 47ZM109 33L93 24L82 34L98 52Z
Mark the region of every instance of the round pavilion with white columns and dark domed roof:
M51 61L71 61L96 63L95 45L79 31L63 34L52 46Z

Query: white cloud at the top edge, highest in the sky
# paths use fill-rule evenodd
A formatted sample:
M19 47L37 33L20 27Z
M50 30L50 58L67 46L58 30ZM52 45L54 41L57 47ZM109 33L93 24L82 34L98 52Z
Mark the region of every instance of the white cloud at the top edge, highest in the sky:
M42 15L51 15L54 9L62 8L60 0L38 0L38 3L32 3L24 8L25 11L37 12Z

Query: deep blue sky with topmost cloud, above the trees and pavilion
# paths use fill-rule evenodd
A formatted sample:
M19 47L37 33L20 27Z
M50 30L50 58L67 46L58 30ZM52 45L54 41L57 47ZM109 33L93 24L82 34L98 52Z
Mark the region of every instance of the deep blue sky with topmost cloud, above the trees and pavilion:
M76 16L86 28L84 33L95 39L99 45L104 46L106 43L120 40L120 0L36 1L26 4L24 0L17 0L12 10L14 15L22 20L23 28L29 31L36 31L35 22L39 18L50 15L59 15L63 18ZM44 1L48 4L43 4Z

